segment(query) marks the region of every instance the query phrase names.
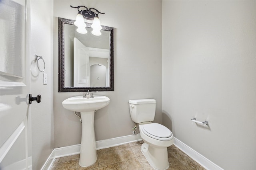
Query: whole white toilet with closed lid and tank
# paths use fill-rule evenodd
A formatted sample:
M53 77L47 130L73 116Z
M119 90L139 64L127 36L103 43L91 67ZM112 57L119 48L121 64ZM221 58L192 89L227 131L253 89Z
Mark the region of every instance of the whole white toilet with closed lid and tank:
M152 123L155 117L156 100L129 100L132 121L139 124L140 136L144 143L141 151L148 163L157 170L169 167L167 147L174 143L172 132L159 123Z

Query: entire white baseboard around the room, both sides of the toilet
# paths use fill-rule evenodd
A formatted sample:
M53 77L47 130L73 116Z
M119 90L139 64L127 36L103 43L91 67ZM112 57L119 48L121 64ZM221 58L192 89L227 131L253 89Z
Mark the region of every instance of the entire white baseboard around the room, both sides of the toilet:
M126 143L141 141L141 140L142 139L140 137L140 134L106 139L102 141L96 141L96 149L99 150L104 148L110 148L118 145L124 145ZM194 149L190 148L188 145L182 143L180 140L176 139L175 137L174 137L174 145L178 147L180 150L182 150L184 153L186 153L188 156L190 156L190 158L198 162L198 164L206 168L207 170L213 170L213 169L223 170L218 165L214 164L212 161L208 160L206 157L196 152ZM41 170L49 170L52 164L54 163L55 158L69 156L73 154L79 154L79 153L80 153L80 144L72 145L68 147L56 148L52 151L52 153L46 160Z

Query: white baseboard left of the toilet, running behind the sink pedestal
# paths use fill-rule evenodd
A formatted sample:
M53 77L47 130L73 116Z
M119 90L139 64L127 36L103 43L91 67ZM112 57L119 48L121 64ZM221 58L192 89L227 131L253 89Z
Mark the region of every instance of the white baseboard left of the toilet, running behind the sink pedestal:
M112 139L106 139L102 141L96 141L96 150L104 149L104 148L110 148L115 147L118 145L124 145L126 143L141 141L140 134L137 135L128 135L124 137L116 137ZM55 158L63 157L63 156L69 156L73 154L79 154L80 153L80 144L79 145L72 145L68 147L61 147L56 148L52 150L52 153L44 163L44 166L41 168L41 170L49 170L54 163Z

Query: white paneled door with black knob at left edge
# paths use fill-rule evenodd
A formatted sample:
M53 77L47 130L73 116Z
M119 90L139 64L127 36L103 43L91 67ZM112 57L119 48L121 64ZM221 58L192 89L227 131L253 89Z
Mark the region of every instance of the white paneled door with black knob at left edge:
M26 0L0 0L0 169L32 169Z

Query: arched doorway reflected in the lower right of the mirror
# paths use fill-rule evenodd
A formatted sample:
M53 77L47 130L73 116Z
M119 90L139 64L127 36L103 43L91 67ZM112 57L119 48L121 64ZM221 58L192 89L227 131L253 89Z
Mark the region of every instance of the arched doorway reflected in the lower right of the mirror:
M102 64L93 64L90 66L90 86L106 86L106 66Z

